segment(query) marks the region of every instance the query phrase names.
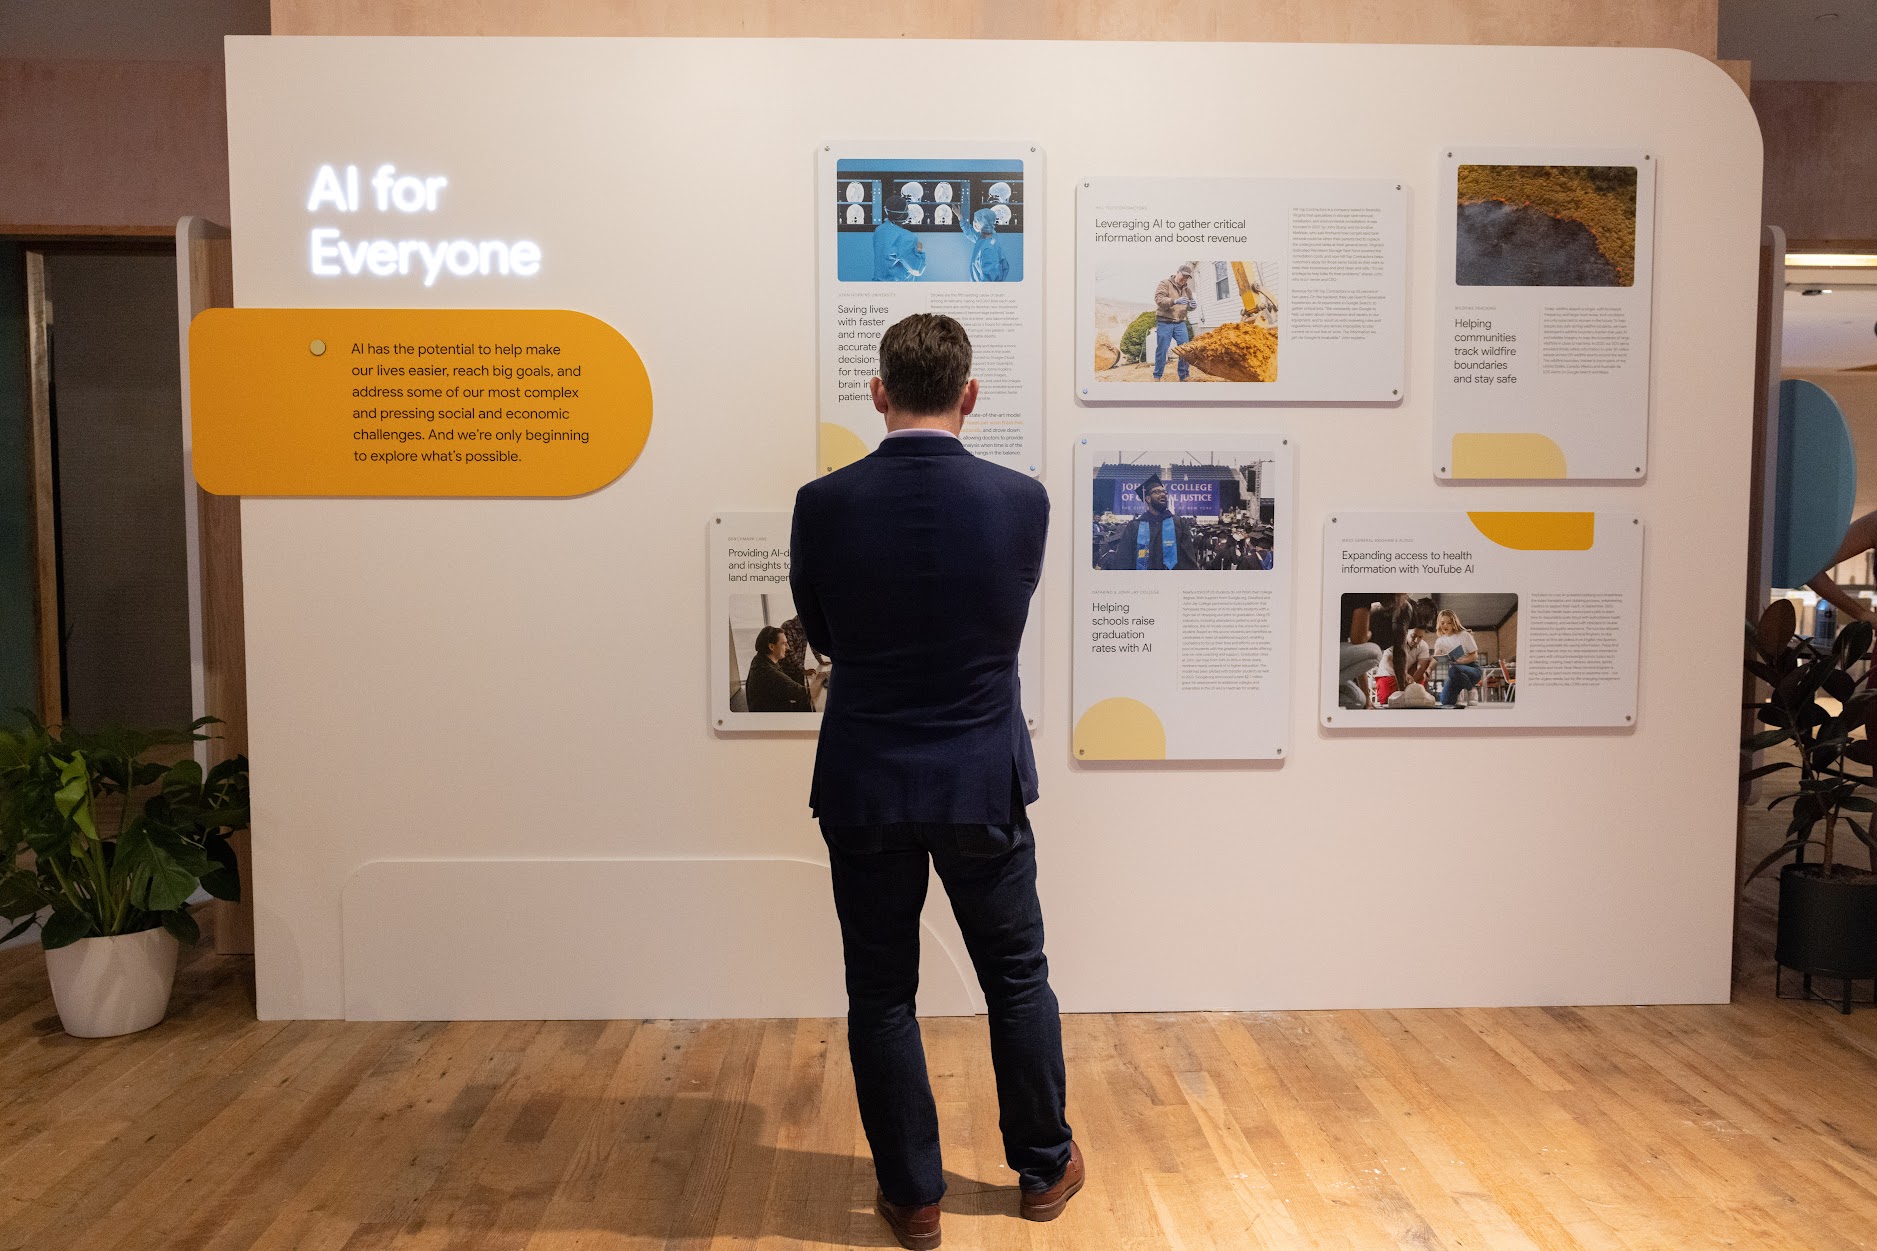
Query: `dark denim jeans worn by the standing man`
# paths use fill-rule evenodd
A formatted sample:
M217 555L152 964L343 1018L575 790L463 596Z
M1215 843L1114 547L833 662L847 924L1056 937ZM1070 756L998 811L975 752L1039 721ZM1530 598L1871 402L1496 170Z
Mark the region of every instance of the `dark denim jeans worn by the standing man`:
M880 1193L905 1206L944 1195L938 1108L914 1016L927 858L978 969L991 1012L1004 1163L1025 1189L1068 1168L1062 1018L1044 960L1036 840L1029 821L822 826L847 950L847 1048Z

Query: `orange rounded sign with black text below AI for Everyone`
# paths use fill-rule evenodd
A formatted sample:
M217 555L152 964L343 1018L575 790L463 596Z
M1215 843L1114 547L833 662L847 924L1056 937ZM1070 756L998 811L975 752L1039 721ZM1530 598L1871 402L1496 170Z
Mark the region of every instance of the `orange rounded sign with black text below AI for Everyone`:
M651 379L563 308L210 308L195 481L218 496L580 496L651 434Z

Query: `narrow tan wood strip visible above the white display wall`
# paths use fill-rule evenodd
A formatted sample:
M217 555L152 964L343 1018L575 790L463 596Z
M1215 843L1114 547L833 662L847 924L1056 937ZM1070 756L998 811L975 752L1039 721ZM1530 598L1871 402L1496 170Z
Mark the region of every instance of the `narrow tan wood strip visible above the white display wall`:
M274 34L1267 39L1678 47L1719 0L272 0Z

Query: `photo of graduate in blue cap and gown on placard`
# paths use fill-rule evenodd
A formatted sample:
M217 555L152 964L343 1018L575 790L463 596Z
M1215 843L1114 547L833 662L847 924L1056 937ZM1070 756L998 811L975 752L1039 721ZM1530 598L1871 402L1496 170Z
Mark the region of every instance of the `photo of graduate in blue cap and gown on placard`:
M1096 569L1248 571L1274 564L1269 460L1226 453L1113 453L1094 466Z

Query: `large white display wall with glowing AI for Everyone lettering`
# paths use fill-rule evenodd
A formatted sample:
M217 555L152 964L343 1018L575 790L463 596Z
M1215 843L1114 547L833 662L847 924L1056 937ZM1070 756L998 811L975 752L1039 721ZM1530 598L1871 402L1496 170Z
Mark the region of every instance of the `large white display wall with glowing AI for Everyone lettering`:
M781 603L730 603L751 590L728 580L726 541L713 556L711 522L766 517L738 537L781 560L796 490L880 434L856 387L837 402L869 372L862 334L940 302L999 381L967 438L1055 505L1030 618L1034 689L1055 701L1032 817L1064 1009L1727 996L1738 701L1708 671L1738 648L1747 492L1729 485L1749 456L1761 152L1714 66L1543 47L270 38L231 39L227 68L240 308L586 314L631 344L657 409L631 468L572 498L242 500L263 1016L830 1011L815 740L698 718L732 712L756 635L786 624ZM1156 103L1160 85L1214 83L1282 107ZM944 103L858 107L899 98ZM1605 171L1646 154L1661 197L1639 175L1631 267L1597 246L1629 286L1449 299L1447 152ZM1231 242L1098 240L1079 229L1083 182L1141 190L1107 203L1117 218L1134 205ZM1145 278L1104 295L1104 248L1145 248ZM1188 332L1164 334L1152 383L1158 286L1183 267ZM1569 374L1535 417L1494 408L1447 430L1445 319L1481 316L1449 304L1522 297L1541 325L1629 301L1640 336L1622 368L1644 404L1594 391L1616 374ZM1149 372L1137 391L1091 378L1100 299L1115 366ZM1250 344L1259 376L1274 340L1276 381L1211 374L1224 340ZM1226 381L1181 387L1183 366ZM1098 404L1085 385L1130 391ZM1258 394L1278 402L1248 408ZM1428 460L1455 432L1520 430L1592 481L1443 481ZM1603 471L1597 447L1646 473ZM1314 552L1333 517L1534 511L1594 515L1597 558L1633 543L1609 567L1620 701L1515 725L1543 710L1520 676L1505 706L1383 699L1344 729L1306 693L1316 678L1293 680L1323 674L1333 584L1338 618L1344 594L1374 594L1372 618L1396 595L1436 614L1453 595L1473 652L1503 646L1481 635L1513 597L1532 652L1532 601L1605 594L1549 582L1532 562L1552 552L1442 548L1505 562L1477 586L1344 586L1357 575ZM1167 533L1177 517L1194 524ZM781 588L773 564L766 579L755 594ZM1121 616L1096 612L1102 580L1126 588L1113 603L1145 590L1220 610L1190 646L1175 631L1143 687L1107 665L1145 654L1096 654L1092 635L1160 614L1130 603L1128 626L1098 626ZM807 689L807 657L783 646L775 665L794 659ZM1154 710L1158 757L1124 734L1077 757L1096 746L1077 721L1107 697ZM1607 716L1618 703L1633 721ZM957 952L935 900L929 934ZM933 977L927 1009L972 1007L969 984Z

